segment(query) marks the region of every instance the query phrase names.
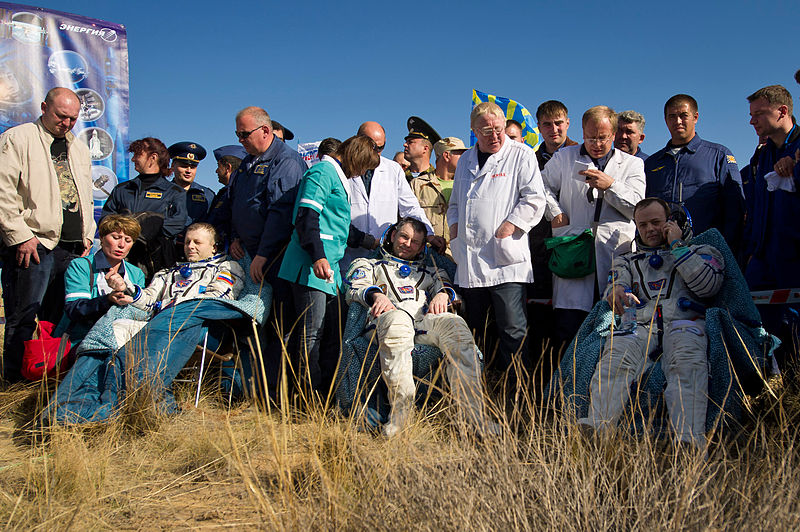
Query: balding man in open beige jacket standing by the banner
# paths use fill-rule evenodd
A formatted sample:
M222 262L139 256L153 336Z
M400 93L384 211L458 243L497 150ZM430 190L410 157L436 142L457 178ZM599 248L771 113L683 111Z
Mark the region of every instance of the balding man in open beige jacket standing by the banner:
M3 378L20 380L23 342L35 318L64 306L64 271L95 233L89 148L71 133L80 101L57 87L42 116L0 135L0 233L6 314ZM46 303L43 303L45 302Z

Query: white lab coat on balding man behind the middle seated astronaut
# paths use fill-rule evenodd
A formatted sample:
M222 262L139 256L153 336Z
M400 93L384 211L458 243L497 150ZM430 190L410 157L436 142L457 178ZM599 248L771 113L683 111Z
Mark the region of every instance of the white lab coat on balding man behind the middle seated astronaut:
M360 178L350 179L350 221L356 229L369 233L377 239L383 232L396 223L400 217L410 216L425 224L428 234L433 233L425 211L411 190L403 169L396 162L381 157L370 183L369 196ZM340 270L345 272L350 263L358 257L366 257L369 250L348 247L344 258L339 263Z

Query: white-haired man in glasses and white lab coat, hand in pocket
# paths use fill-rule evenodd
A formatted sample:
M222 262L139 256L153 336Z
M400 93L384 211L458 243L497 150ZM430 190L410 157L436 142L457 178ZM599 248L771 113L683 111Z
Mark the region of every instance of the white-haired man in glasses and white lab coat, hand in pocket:
M484 331L494 310L502 367L518 358L527 365L525 292L533 282L527 233L544 212L542 177L533 149L506 135L496 104L476 105L470 127L477 145L458 162L447 210L456 284L471 329Z

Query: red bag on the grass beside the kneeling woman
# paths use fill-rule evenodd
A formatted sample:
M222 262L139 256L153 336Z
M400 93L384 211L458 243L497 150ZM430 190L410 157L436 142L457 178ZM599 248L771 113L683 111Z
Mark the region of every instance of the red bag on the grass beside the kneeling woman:
M72 365L67 356L72 349L69 335L64 333L60 338L53 338L53 329L55 325L49 321L37 321L33 338L25 340L22 376L30 381L41 380L45 372L48 378L60 377Z

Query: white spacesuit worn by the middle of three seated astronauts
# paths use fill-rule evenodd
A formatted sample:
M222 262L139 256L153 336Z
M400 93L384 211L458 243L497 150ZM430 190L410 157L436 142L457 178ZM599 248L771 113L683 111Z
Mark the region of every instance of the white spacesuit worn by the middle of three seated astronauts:
M497 432L497 426L485 418L478 351L466 322L450 312L427 313L429 300L439 292L447 292L450 301L455 297L444 270L400 259L381 248L379 258L353 261L346 284L348 303L356 301L369 308L373 297L383 293L395 306L395 310L368 318L376 328L381 371L392 407L389 423L383 428L386 436L402 430L413 411L411 350L415 342L436 346L444 353L453 399L467 420L480 432Z

